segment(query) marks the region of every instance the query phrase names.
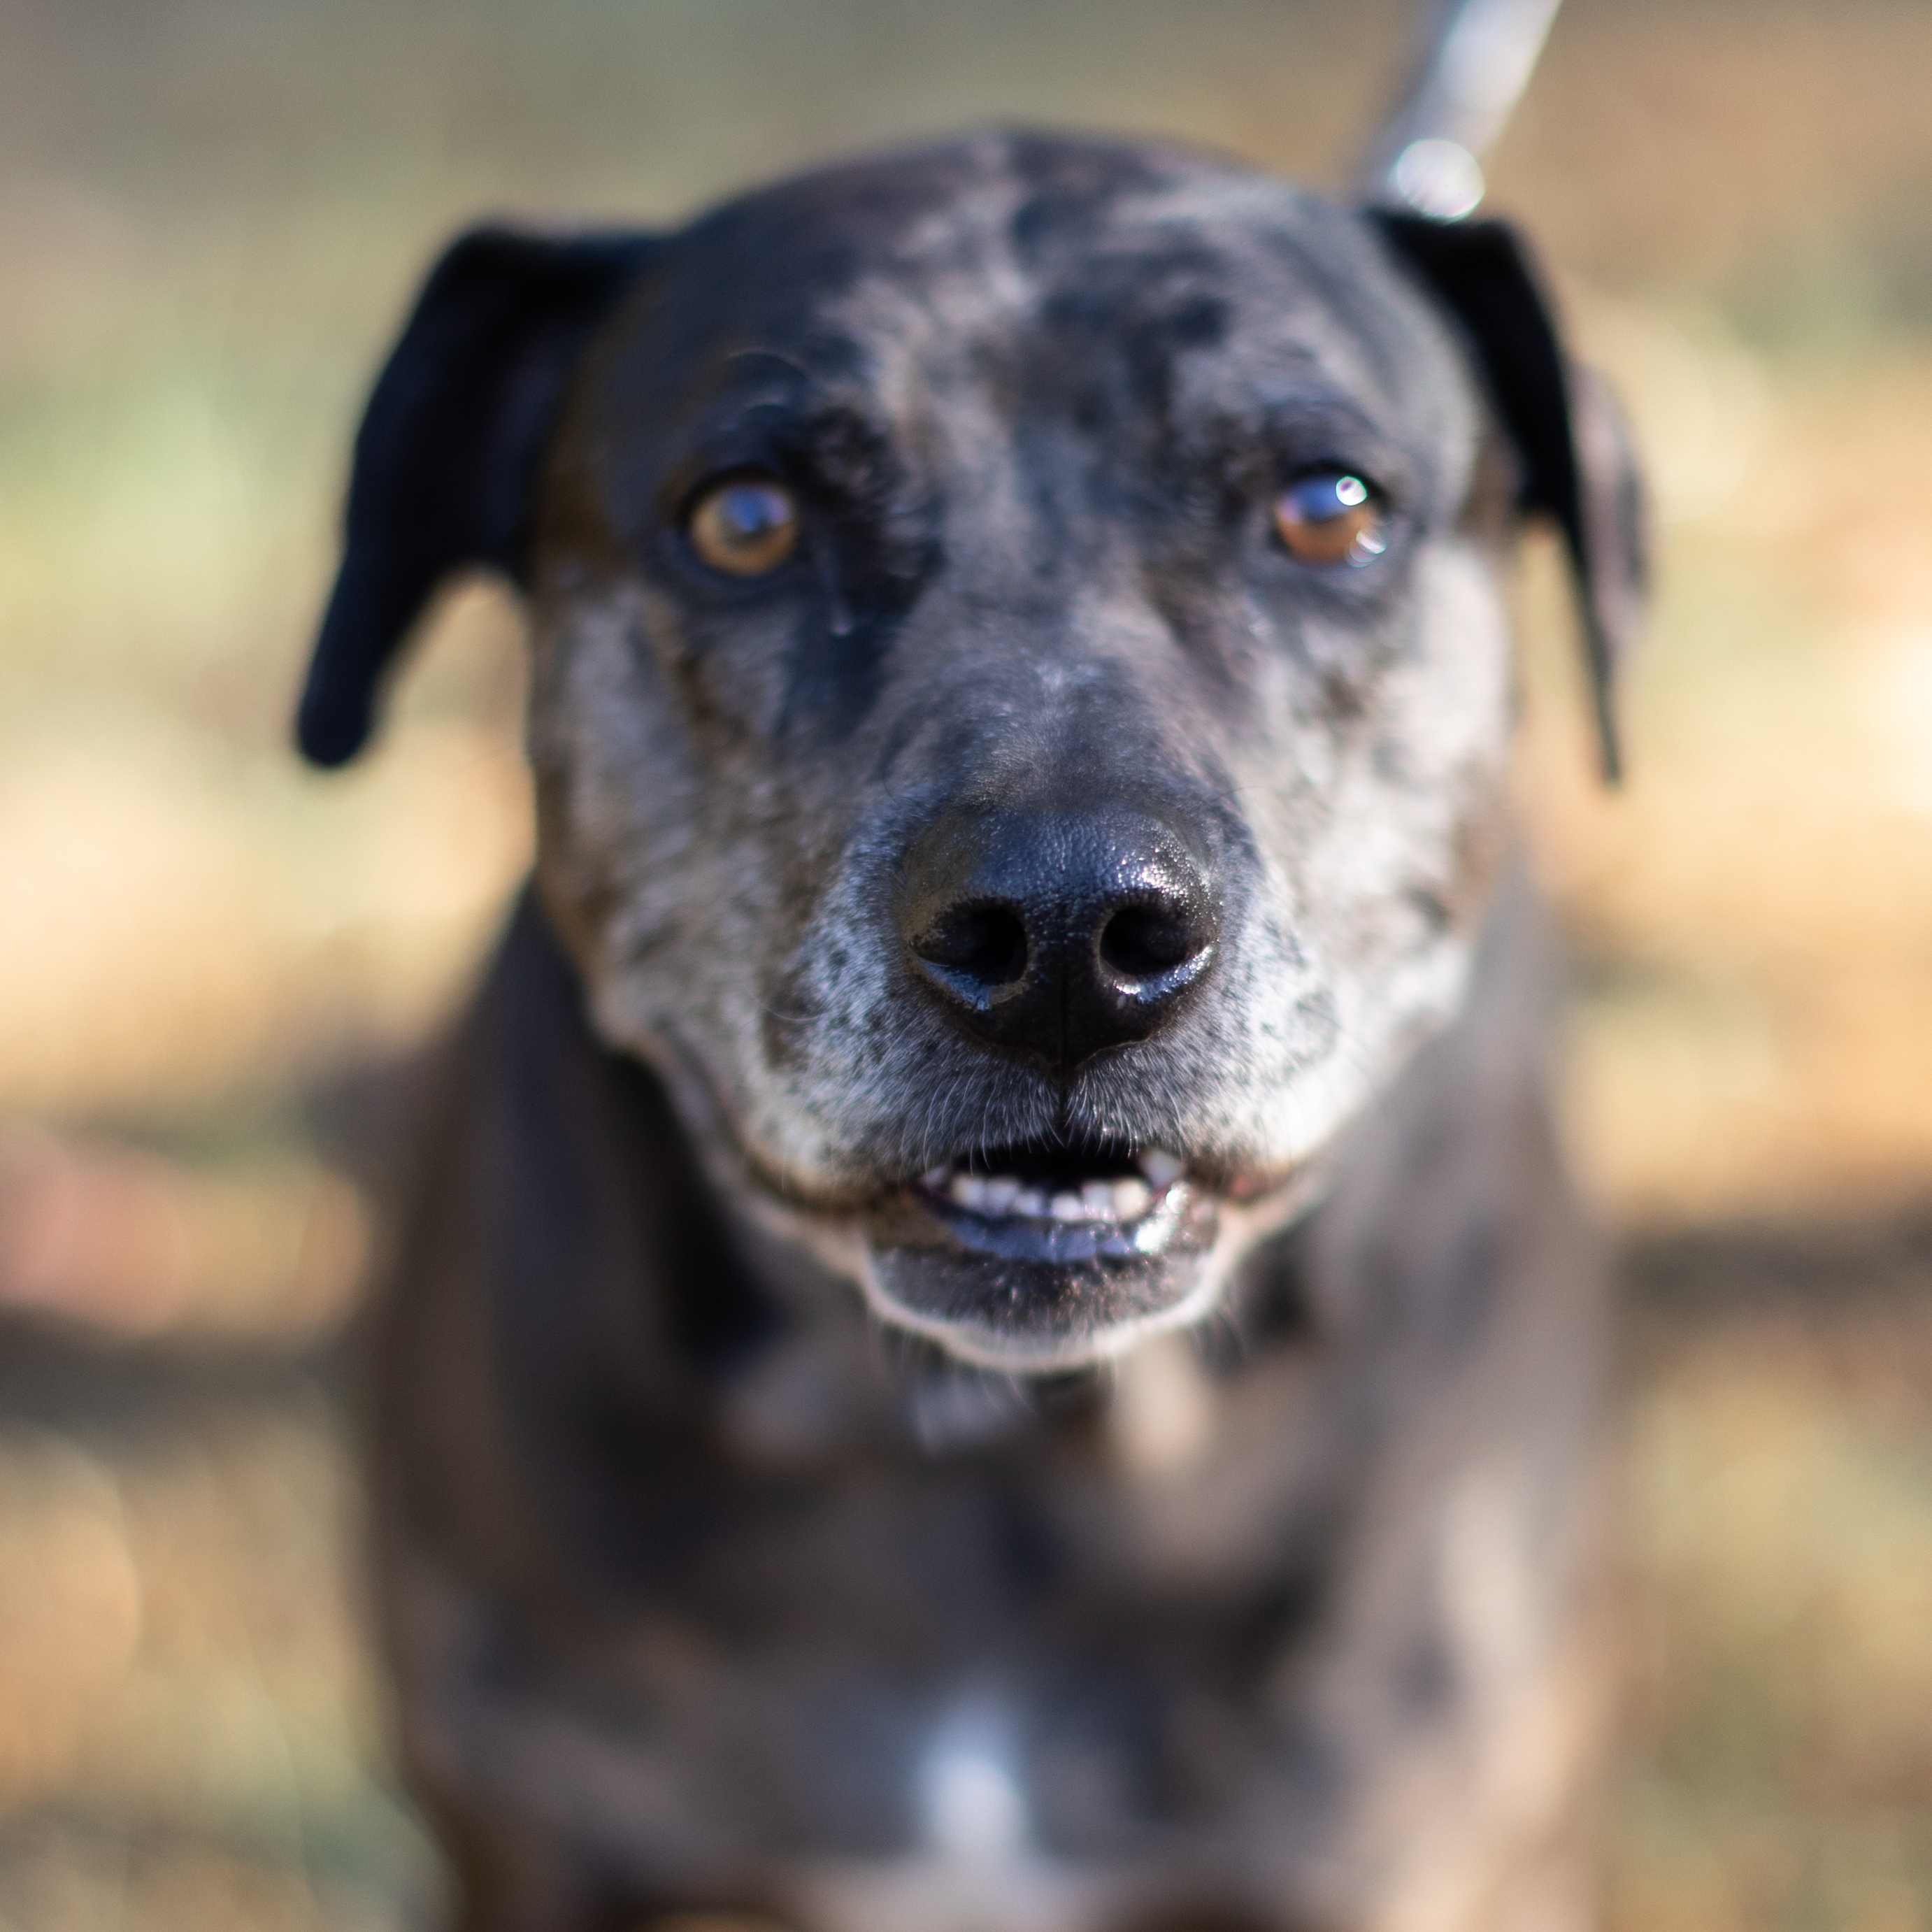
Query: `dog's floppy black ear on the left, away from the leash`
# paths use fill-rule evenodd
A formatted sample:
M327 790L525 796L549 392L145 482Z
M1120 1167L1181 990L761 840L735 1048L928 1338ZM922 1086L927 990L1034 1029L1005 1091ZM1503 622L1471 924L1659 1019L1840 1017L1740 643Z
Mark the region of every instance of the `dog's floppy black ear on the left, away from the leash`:
M537 469L572 363L651 245L473 228L431 270L355 437L342 568L296 717L313 763L361 750L396 647L452 570L526 582Z

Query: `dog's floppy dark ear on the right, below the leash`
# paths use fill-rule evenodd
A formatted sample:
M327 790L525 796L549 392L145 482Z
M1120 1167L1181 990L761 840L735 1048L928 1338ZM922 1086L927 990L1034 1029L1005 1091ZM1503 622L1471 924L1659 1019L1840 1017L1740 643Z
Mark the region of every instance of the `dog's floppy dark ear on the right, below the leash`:
M1646 601L1644 489L1605 384L1563 352L1528 249L1505 222L1376 211L1397 255L1461 323L1522 464L1520 506L1555 518L1588 653L1604 777L1621 773L1613 682Z

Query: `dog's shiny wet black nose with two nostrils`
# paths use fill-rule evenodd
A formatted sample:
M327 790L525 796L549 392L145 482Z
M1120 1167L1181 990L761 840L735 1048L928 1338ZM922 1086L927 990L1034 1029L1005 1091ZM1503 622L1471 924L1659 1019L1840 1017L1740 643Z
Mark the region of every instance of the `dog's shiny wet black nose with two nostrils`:
M1138 811L945 819L906 854L914 976L981 1039L1061 1072L1148 1039L1213 964L1202 860Z

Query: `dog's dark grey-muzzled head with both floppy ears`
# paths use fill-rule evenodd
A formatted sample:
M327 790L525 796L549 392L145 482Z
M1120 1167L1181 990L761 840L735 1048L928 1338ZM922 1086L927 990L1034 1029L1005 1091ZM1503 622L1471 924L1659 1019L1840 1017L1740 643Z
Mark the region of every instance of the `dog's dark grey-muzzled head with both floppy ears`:
M303 746L508 572L603 1036L889 1320L1092 1360L1204 1312L1455 1010L1519 512L1600 692L1636 585L1588 396L1505 230L1140 145L479 230L369 406Z

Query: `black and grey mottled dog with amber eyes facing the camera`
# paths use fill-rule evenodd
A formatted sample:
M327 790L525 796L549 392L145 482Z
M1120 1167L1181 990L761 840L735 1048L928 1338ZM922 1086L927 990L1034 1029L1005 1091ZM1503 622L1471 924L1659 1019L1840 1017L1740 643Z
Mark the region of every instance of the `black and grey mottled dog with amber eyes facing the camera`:
M466 1932L1561 1932L1605 1269L1511 860L1517 236L987 133L462 236L299 713L529 607L537 860L369 1327Z

